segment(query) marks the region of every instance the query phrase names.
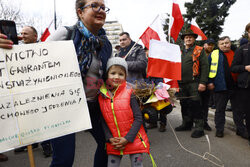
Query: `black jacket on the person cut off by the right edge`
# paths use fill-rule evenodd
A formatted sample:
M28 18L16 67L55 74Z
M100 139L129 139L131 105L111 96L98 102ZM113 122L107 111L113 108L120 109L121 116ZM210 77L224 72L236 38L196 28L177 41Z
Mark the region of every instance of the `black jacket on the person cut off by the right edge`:
M231 66L232 72L239 73L237 83L240 88L250 88L250 72L245 70L247 65L250 65L250 42L236 50Z

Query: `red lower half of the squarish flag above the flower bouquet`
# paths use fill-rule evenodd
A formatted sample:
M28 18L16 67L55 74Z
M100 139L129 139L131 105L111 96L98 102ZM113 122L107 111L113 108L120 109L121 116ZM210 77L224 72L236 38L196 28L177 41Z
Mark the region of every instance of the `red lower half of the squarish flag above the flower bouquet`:
M181 80L181 62L149 57L147 76Z

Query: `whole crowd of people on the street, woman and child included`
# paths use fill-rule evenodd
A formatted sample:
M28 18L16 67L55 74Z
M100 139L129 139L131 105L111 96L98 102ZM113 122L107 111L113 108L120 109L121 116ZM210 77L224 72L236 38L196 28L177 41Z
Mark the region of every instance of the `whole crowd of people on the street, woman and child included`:
M146 77L145 50L131 40L129 33L123 32L119 37L119 51L112 56L111 43L102 28L109 11L104 0L76 0L75 10L77 23L59 28L47 41L74 42L92 123L89 132L97 143L94 167L118 167L122 155L126 154L130 155L132 166L143 166L142 153L150 154L150 144L141 109L132 86L131 89L128 87ZM193 138L204 136L204 130L211 131L207 118L209 101L213 98L215 136L223 137L225 110L230 99L236 134L248 139L250 144L250 23L245 31L248 40L242 41L242 46L235 52L231 49L228 36L220 37L216 48L216 42L211 38L205 41L203 47L198 46L197 34L189 29L181 35L185 46L181 55L182 79L178 81L182 124L175 128L176 131L194 129ZM26 26L20 39L24 44L35 43L37 32L33 27ZM0 48L12 49L12 46L13 42L0 33ZM105 82L100 89L87 89L89 77ZM165 131L166 115L162 119L160 132ZM148 128L158 125L150 126ZM73 166L75 133L41 145L46 157L52 154L50 167ZM0 154L0 161L6 160L8 157Z

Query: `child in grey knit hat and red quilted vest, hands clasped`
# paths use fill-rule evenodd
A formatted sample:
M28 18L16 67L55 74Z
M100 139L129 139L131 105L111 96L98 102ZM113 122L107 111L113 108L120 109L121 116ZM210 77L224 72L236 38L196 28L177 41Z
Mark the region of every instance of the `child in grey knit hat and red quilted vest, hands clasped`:
M142 167L142 153L149 154L149 142L142 126L140 107L126 82L128 66L120 57L107 63L107 81L98 97L104 118L108 167L118 167L129 154L132 166Z

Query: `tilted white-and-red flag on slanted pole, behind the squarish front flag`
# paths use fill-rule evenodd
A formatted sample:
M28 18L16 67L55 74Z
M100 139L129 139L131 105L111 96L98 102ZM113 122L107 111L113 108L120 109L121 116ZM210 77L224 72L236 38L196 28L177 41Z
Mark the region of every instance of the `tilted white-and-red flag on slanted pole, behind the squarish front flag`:
M152 24L144 31L140 36L140 39L144 46L149 49L149 41L151 39L166 41L166 34L163 30L162 21L160 15L157 15Z

